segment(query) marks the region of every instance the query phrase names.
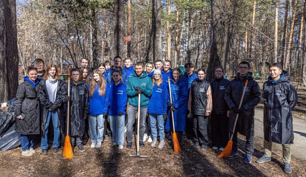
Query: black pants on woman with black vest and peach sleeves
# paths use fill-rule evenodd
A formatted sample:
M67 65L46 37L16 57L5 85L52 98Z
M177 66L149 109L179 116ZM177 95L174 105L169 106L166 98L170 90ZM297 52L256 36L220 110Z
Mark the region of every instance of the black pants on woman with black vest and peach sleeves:
M207 125L208 117L192 114L192 129L194 132L194 140L200 144L208 145Z

